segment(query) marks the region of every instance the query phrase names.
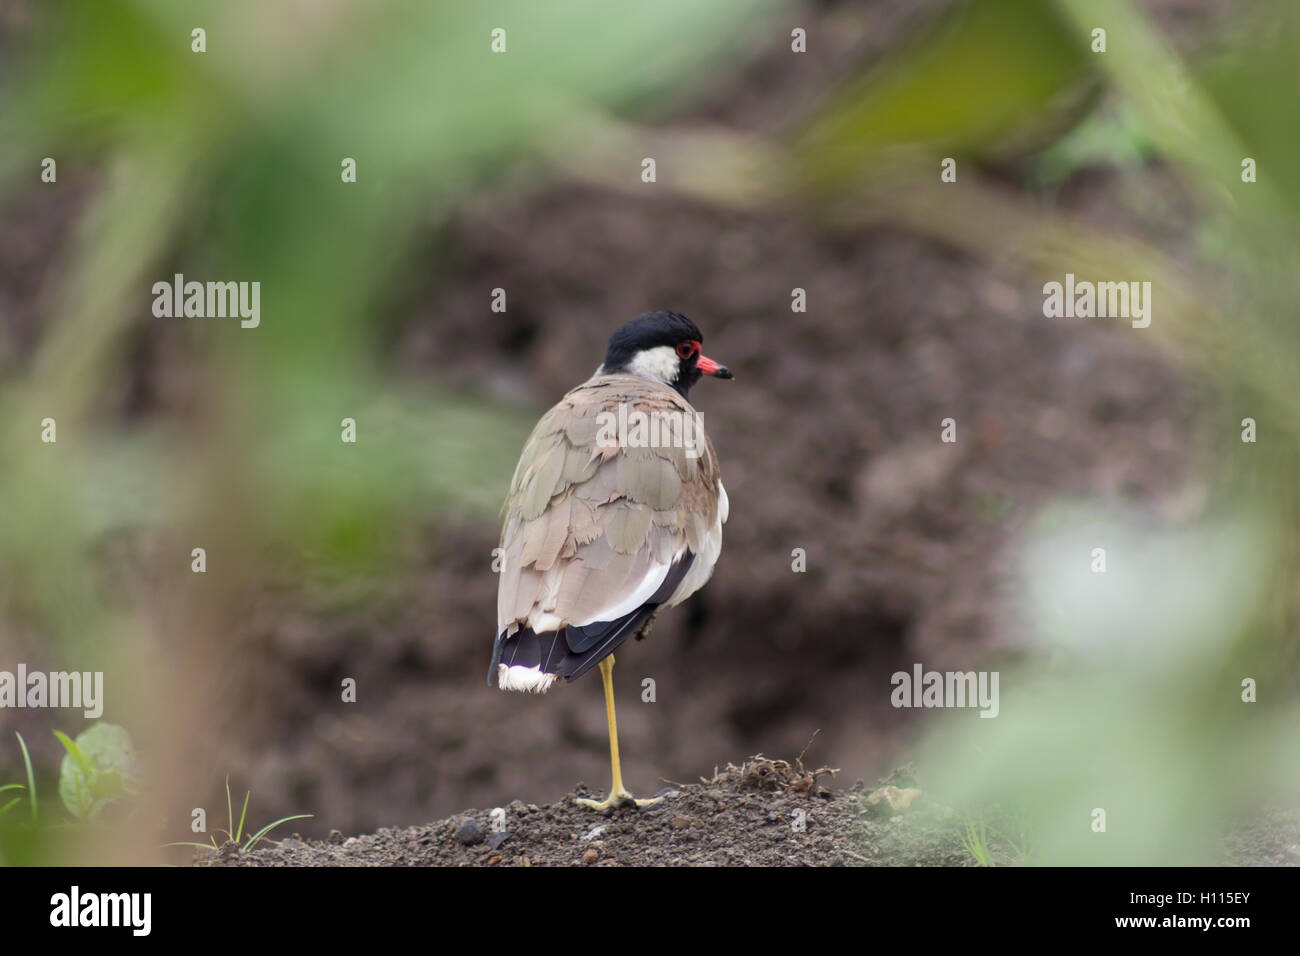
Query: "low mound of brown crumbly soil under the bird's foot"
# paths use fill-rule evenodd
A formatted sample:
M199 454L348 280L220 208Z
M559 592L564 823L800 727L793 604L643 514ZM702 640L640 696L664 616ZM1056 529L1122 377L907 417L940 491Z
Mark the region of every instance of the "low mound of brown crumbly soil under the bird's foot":
M708 779L671 784L655 806L604 814L577 806L580 784L549 806L519 800L425 826L344 839L298 836L242 853L204 852L199 866L862 866L967 865L952 812L927 804L902 771L850 791L835 771L751 757Z

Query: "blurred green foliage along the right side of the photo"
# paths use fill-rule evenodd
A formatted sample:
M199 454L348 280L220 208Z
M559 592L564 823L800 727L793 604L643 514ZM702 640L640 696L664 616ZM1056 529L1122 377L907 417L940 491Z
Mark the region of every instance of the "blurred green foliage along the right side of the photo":
M945 714L924 747L939 795L980 819L1018 808L1036 864L1217 862L1234 822L1300 799L1300 130L1284 120L1300 88L1300 8L1260 4L1230 23L1191 64L1126 0L958 4L848 82L794 140L806 186L841 204L883 177L876 203L1030 276L1154 280L1154 339L1225 405L1196 519L1170 525L1097 501L1044 512L1020 545L1015 601L1037 648L1004 671L996 719ZM1098 26L1105 53L1089 52ZM946 155L972 163L966 183L1020 159L1040 182L1166 165L1213 237L1206 259L1171 268L1149 242L1115 243L992 190L965 206L968 186L942 187L952 206L888 198L930 195ZM1243 181L1245 157L1257 182ZM1244 418L1269 437L1243 444ZM1093 574L1102 544L1112 566ZM1247 679L1257 702L1244 700ZM984 858L978 835L961 839Z

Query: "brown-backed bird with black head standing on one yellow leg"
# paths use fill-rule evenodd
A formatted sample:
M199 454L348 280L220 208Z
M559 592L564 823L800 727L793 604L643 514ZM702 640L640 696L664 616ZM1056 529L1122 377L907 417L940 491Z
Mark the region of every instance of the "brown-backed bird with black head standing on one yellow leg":
M686 395L707 358L677 312L645 312L610 337L604 360L533 429L502 506L497 636L488 683L545 693L601 671L611 784L593 810L634 804L623 786L614 652L712 576L729 502L703 416Z

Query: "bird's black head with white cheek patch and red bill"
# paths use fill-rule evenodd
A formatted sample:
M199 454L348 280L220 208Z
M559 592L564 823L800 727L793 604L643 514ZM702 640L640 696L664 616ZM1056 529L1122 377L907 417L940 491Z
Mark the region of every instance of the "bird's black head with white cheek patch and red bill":
M725 365L699 351L703 341L699 328L684 315L645 312L610 336L601 369L660 381L685 398L702 375L733 377Z

